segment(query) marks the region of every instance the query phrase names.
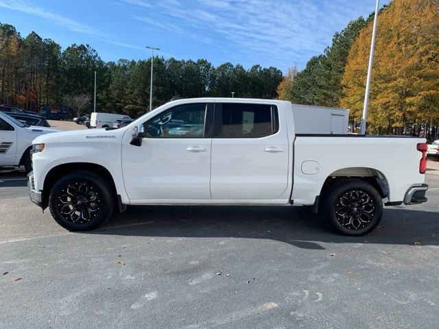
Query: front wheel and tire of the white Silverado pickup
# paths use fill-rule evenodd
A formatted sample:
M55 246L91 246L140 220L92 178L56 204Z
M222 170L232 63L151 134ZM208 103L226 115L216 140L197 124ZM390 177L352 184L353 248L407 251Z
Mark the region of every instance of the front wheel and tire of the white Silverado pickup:
M67 230L93 230L112 214L114 197L111 191L101 176L90 171L73 171L51 188L50 213Z

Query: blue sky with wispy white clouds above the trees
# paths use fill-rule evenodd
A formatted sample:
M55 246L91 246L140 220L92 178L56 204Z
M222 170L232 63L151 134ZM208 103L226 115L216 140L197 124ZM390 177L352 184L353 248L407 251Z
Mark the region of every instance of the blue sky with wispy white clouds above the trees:
M380 5L389 0L381 0ZM88 43L103 60L159 56L302 69L374 0L0 0L0 22L63 49Z

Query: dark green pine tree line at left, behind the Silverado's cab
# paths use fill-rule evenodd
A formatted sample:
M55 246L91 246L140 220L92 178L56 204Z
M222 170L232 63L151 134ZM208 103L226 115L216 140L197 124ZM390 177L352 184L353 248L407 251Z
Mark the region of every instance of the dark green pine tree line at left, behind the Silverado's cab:
M146 53L145 53L146 54ZM36 32L23 38L14 26L0 23L0 103L38 111L49 104L90 112L97 73L97 110L137 117L149 110L151 60L104 62L90 45L62 49ZM172 97L274 99L283 79L275 67L226 62L154 58L153 108ZM75 113L78 114L78 113Z

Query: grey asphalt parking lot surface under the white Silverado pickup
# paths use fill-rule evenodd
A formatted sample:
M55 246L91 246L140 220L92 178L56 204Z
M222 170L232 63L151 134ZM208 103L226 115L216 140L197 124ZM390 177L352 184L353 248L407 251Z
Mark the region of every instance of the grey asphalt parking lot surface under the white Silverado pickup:
M438 328L429 202L335 235L303 207L129 207L71 233L0 172L0 328Z

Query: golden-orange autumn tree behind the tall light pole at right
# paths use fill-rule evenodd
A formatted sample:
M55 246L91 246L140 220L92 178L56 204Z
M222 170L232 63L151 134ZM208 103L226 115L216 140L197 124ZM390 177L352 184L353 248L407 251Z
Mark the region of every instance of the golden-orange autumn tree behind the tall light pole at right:
M361 117L372 23L348 53L340 104ZM394 0L379 14L370 103L370 132L439 123L439 1ZM399 129L401 130L401 129Z

